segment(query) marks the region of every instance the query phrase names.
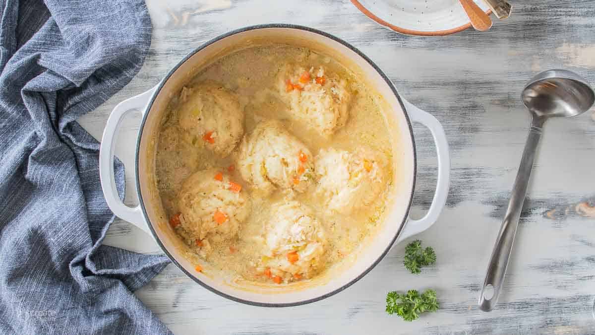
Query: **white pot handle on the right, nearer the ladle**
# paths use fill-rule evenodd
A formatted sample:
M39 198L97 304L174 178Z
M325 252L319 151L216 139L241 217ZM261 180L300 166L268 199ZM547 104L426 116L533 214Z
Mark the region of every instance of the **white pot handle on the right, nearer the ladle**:
M446 204L446 197L448 196L450 186L450 152L446 134L444 134L444 128L440 125L436 117L415 107L409 101L402 100L411 121L426 126L434 138L436 155L438 157L438 181L428 213L419 220L408 219L405 229L399 235L398 241L403 241L405 238L419 234L425 229L430 228L438 220L438 216L444 208L444 204Z

